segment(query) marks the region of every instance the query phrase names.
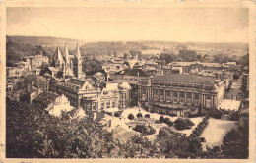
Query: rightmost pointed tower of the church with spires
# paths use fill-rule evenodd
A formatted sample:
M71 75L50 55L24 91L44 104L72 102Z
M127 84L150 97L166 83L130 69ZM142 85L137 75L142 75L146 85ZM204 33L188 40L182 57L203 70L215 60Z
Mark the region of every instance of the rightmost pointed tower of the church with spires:
M80 79L83 77L82 73L82 58L80 54L79 44L77 44L77 49L75 52L74 62L73 62L73 70L75 76Z

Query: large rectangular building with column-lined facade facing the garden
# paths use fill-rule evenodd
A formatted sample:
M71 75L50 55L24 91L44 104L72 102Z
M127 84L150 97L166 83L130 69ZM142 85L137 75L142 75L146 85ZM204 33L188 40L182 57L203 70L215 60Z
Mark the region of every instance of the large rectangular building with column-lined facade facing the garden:
M224 100L224 90L224 81L216 78L171 74L141 80L138 104L149 111L183 116L198 106L218 108Z

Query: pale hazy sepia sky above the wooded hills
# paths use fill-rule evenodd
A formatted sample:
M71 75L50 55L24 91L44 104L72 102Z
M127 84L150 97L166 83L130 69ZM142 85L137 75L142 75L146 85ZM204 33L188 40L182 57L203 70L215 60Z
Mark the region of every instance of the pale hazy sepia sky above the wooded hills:
M246 8L7 8L7 35L88 41L244 42Z

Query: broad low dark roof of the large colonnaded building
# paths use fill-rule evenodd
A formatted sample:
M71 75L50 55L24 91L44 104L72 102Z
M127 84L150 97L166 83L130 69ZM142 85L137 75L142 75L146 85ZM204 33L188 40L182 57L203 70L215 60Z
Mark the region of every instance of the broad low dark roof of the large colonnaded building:
M168 76L158 76L153 78L154 81L176 81L190 83L215 83L216 78L202 77L196 75L170 74Z

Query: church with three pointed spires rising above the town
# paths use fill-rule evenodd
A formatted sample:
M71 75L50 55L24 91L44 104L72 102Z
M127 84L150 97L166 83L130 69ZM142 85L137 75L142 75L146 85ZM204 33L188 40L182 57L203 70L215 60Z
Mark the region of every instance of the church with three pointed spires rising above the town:
M61 54L60 48L57 47L50 61L50 66L46 67L41 72L41 75L55 79L85 78L85 73L82 72L82 57L79 44L77 44L75 55L72 57L69 55L67 44L65 44L64 54Z

